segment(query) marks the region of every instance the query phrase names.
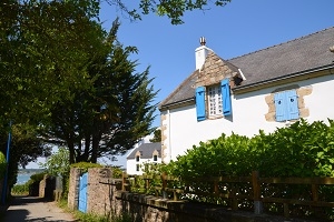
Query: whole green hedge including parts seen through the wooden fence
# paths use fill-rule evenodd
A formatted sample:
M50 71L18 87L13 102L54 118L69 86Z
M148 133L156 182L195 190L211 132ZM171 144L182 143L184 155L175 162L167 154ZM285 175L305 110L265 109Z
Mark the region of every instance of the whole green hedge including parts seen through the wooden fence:
M218 139L200 142L198 147L187 150L166 168L166 172L179 176L183 181L198 176L247 176L258 171L263 178L308 178L334 176L334 122L323 121L307 123L297 121L291 127L279 128L273 133L259 131L253 138L232 133L222 134ZM190 181L190 180L188 180ZM235 184L220 184L228 193ZM212 192L213 185L206 182L193 182L193 191ZM252 193L250 184L238 184L243 193ZM223 191L222 191L223 192ZM310 185L267 184L263 194L273 198L310 200ZM320 185L318 198L322 201L334 201L334 188ZM193 196L195 201L210 203L222 202L219 198ZM252 202L239 201L240 209L250 210ZM282 205L266 204L268 211L283 212ZM313 215L307 206L294 205L291 211L297 216ZM325 214L332 218L332 210ZM334 218L334 215L333 215Z

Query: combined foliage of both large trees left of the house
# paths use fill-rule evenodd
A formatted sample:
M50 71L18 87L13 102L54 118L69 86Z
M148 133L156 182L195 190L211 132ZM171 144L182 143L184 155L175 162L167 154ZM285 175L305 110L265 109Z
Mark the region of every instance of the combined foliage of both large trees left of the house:
M38 125L46 142L69 148L71 163L124 153L150 133L153 79L148 69L135 73L128 57L137 49L117 41L119 22L108 34L102 29L99 1L0 7L3 124Z

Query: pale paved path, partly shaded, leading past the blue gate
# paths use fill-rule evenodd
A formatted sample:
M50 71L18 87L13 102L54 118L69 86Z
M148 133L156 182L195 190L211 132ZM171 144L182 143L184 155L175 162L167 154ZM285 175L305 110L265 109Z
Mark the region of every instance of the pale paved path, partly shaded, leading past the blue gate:
M35 196L16 196L8 208L3 222L75 222L70 213L63 212L55 202L45 202Z

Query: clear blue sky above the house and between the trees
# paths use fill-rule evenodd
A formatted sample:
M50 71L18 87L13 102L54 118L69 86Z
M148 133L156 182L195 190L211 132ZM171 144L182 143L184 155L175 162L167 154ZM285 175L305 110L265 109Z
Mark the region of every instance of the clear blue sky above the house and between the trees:
M173 26L156 14L131 22L118 9L102 4L100 18L109 31L119 17L118 40L138 48L139 53L131 57L138 60L138 71L150 65L154 87L160 90L155 101L158 103L195 70L200 37L220 58L232 59L333 27L333 0L232 0L225 7L186 12L185 23ZM156 114L154 127L159 127L159 112ZM126 157L118 160L115 164L126 165Z

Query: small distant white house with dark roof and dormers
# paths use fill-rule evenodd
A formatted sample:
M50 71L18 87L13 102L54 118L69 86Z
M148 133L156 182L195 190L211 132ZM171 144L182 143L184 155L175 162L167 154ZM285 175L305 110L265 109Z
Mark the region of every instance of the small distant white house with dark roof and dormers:
M161 143L141 143L127 157L127 173L143 174L144 163L161 163Z

